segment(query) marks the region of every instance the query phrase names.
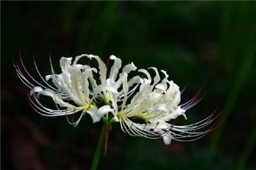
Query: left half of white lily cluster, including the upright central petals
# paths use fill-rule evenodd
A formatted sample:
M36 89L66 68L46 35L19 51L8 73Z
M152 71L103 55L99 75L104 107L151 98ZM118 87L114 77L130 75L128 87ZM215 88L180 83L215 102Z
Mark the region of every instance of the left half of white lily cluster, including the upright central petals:
M34 58L35 69L43 82L40 83L39 80L33 78L26 69L20 53L19 57L23 70L20 69L18 63L15 63L14 67L20 80L22 80L22 82L30 89L30 92L28 92L30 95L27 95L28 103L36 112L44 116L67 116L69 114L81 112L81 115L76 122L68 121L69 124L76 126L79 124L81 117L85 113L90 114L93 122L98 122L101 120L101 117L104 116L104 114L111 111L109 105L104 105L98 109L96 103L101 103L104 101L106 104L108 104L109 102L112 102L110 101L110 92L111 94L118 95L117 89L121 86L122 80L116 80L116 78L118 75L118 70L121 68L121 59L115 56L110 56L110 59L114 60L114 65L112 66L109 78L107 79L107 67L98 56L93 56L92 54L82 54L77 56L73 63L72 57L61 57L60 74L56 74L53 70L50 57L49 61L51 66L51 74L46 75L46 78L44 79L39 72ZM99 71L96 68L90 67L89 65L81 65L77 63L82 57L96 59L98 62ZM120 75L128 74L130 71L136 69L137 67L135 67L133 63L130 63L123 67ZM94 79L93 73L99 74L100 83L97 83L97 80ZM54 86L48 83L50 79L52 80ZM139 76L135 76L135 78L131 79L131 86L138 80ZM40 103L40 95L51 97L56 104L56 109L47 108ZM72 104L70 101L72 101Z

